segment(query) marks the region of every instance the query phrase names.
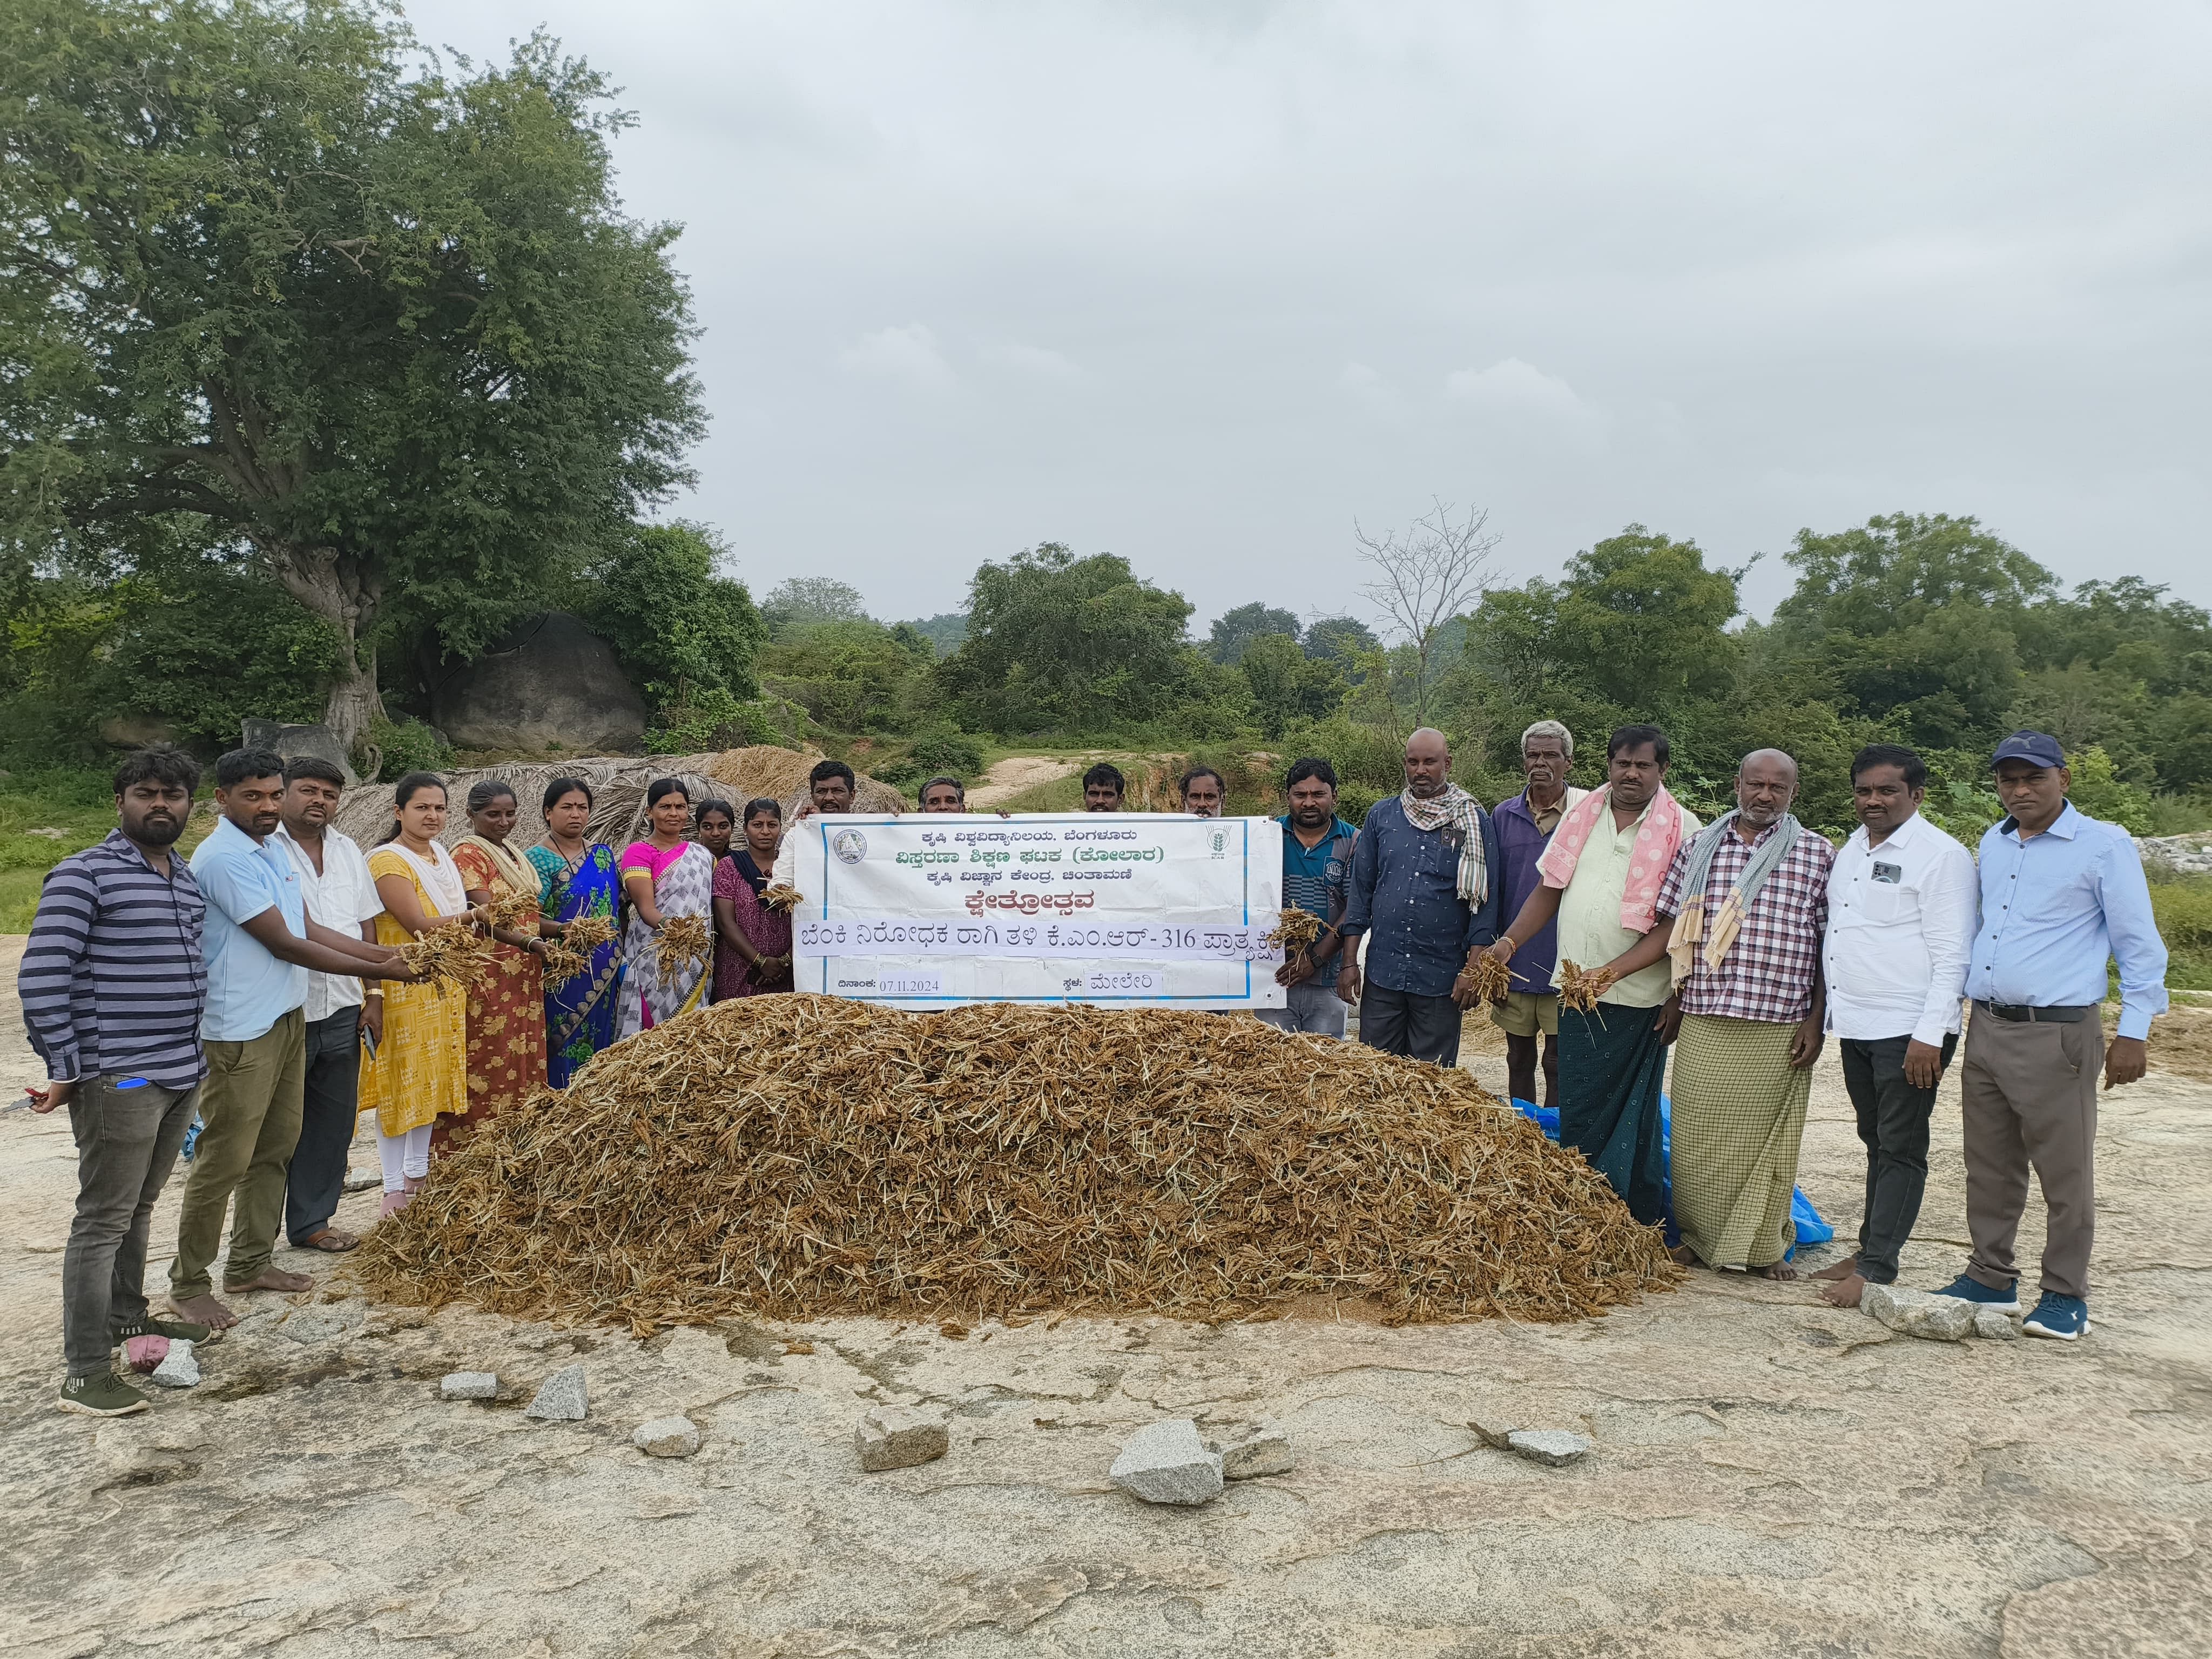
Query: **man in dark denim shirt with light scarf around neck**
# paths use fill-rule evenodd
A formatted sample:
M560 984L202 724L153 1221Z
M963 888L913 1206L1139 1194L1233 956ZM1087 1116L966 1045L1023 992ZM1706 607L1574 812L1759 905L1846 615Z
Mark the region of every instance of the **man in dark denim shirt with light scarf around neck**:
M1352 854L1340 933L1367 933L1365 973L1345 951L1336 995L1360 1004L1360 1042L1438 1066L1460 1062L1464 971L1498 936L1498 830L1451 783L1451 745L1431 728L1405 741L1405 790L1367 810ZM1365 995L1363 991L1365 980Z

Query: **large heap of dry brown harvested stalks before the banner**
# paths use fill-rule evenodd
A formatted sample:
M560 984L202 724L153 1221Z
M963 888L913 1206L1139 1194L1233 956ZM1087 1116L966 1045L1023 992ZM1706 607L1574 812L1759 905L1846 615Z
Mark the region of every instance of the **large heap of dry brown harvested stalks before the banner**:
M1157 1009L723 1002L493 1117L358 1256L372 1294L737 1312L1564 1321L1679 1279L1464 1071Z

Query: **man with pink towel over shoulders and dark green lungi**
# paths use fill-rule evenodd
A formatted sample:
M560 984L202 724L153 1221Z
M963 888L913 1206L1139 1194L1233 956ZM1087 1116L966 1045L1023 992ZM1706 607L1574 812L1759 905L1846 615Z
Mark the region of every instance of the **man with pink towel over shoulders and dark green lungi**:
M1659 883L1699 827L1668 794L1666 770L1668 737L1657 726L1613 732L1606 785L1559 818L1535 867L1540 885L1491 947L1493 958L1511 962L1557 918L1557 984L1568 962L1613 962L1652 929ZM1559 1009L1559 1144L1577 1148L1648 1225L1666 1219L1659 1088L1674 1037L1670 1011L1657 949L1639 971L1617 973L1595 1009Z

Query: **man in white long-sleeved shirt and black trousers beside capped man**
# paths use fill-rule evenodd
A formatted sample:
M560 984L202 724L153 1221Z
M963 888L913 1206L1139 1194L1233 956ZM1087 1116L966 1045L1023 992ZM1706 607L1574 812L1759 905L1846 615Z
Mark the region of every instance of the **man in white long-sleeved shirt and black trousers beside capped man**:
M1823 1267L1820 1298L1856 1307L1898 1279L1929 1179L1929 1113L1958 1046L1975 927L1973 854L1920 816L1927 768L1898 743L1851 759L1858 830L1827 878L1827 1029L1867 1146L1858 1252Z

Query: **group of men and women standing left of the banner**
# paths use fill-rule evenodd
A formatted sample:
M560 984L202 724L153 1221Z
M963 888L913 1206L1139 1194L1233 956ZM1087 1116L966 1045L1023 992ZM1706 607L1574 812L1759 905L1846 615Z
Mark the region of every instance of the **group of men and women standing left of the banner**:
M447 847L447 783L409 772L385 836L363 849L332 827L336 765L234 750L215 763L217 821L186 863L173 847L199 781L173 748L122 763L117 827L46 876L20 969L49 1077L31 1106L66 1106L77 1144L60 1402L93 1416L146 1405L113 1371L117 1345L208 1343L237 1323L215 1292L219 1256L226 1296L303 1292L314 1281L274 1261L279 1230L303 1250L361 1243L336 1225L361 1113L376 1113L392 1214L442 1146L531 1088L566 1086L608 1044L703 1000L790 989L790 918L761 902L783 836L772 799L739 814L659 779L646 834L617 854L588 838L591 785L555 779L544 836L518 847L515 792L484 779ZM823 761L810 787L807 810L843 812L852 768ZM664 969L657 945L677 916L708 920L712 945ZM584 918L604 918L608 938L551 978L549 940ZM407 964L403 947L456 925L489 945L473 984ZM150 1217L188 1144L157 1314Z

